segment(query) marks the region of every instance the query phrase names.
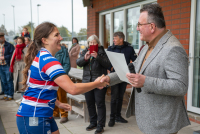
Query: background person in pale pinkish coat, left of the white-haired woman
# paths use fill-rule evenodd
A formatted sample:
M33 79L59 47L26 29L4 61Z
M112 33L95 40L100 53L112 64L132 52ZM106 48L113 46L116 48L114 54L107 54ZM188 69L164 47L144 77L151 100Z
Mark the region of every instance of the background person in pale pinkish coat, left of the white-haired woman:
M80 48L81 47L78 44L78 39L76 37L72 38L72 46L69 50L71 67L77 68L76 59L78 59Z

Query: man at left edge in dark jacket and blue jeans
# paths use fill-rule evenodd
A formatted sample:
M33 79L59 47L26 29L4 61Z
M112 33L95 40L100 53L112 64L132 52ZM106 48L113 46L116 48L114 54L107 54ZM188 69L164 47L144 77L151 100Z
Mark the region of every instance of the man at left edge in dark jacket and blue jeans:
M5 41L4 33L0 33L0 76L5 96L1 100L12 100L14 95L13 79L11 77L10 60L14 46Z

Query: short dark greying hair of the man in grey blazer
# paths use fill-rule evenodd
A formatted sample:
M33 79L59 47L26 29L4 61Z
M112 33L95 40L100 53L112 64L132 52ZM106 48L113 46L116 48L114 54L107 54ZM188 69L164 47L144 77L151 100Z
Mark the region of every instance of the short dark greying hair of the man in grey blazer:
M140 9L140 13L144 11L148 12L148 23L154 23L158 28L166 27L163 11L159 4L146 5Z

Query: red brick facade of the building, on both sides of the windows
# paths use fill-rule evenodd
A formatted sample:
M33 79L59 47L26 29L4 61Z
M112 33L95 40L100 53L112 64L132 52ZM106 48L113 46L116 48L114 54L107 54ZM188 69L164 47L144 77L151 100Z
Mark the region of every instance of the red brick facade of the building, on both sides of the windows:
M136 0L92 0L93 8L88 6L87 36L99 36L99 12L132 4ZM191 0L158 0L163 8L167 29L180 40L189 54Z

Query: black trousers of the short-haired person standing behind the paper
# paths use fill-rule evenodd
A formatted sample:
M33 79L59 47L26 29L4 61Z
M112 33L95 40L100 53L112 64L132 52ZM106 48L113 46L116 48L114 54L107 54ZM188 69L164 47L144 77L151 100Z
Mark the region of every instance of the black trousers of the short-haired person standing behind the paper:
M111 113L110 119L115 119L115 116L121 116L123 97L126 91L126 82L122 82L111 86Z

